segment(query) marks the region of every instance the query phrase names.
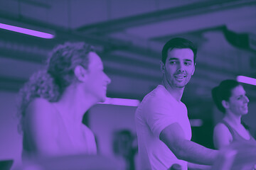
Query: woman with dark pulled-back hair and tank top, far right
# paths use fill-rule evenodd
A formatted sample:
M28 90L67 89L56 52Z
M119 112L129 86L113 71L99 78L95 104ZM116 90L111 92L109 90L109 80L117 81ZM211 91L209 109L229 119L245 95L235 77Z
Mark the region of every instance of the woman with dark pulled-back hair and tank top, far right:
M212 96L217 108L224 113L224 118L214 128L215 148L220 149L231 142L255 142L241 121L242 115L248 113L249 103L242 85L231 79L222 81L213 88Z

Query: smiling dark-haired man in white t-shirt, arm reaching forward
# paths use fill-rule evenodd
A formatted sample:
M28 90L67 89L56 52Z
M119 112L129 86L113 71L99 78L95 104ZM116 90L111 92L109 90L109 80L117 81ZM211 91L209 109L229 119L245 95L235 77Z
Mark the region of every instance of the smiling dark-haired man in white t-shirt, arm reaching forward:
M140 169L210 169L218 151L191 142L184 88L196 66L195 45L183 38L166 42L161 56L162 83L147 94L135 113ZM192 162L189 163L188 162ZM193 164L194 163L194 164ZM203 164L203 165L200 165Z

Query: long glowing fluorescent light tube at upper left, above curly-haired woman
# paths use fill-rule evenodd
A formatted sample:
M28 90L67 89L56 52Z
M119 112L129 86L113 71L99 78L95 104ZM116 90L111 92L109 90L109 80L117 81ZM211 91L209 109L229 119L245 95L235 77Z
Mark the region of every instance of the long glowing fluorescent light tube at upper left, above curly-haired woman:
M4 23L0 23L0 28L5 29L5 30L11 30L11 31L14 31L17 33L32 35L32 36L39 37L39 38L46 38L46 39L54 38L54 35L52 35L50 33L43 33L38 30L31 30L31 29L21 28L21 27L17 27L17 26L11 26L11 25L7 25Z

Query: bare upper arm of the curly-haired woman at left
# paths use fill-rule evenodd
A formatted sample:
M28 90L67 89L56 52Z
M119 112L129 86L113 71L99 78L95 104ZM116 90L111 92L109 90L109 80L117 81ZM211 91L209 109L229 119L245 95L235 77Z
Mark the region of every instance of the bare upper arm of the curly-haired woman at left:
M53 106L43 98L35 98L26 109L23 129L29 143L34 146L33 152L40 156L58 154L54 111Z

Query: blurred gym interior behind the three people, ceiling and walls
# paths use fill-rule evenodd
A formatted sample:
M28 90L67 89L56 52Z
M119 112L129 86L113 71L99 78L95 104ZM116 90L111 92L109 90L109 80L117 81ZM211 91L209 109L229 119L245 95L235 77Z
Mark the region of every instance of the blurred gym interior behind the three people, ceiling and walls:
M182 101L192 140L210 148L213 127L222 118L210 90L238 75L256 78L255 0L0 0L0 23L53 35L38 38L0 28L0 160L13 159L14 164L21 162L18 89L43 69L48 52L59 43L95 45L112 79L107 96L142 101L161 82L164 43L174 37L195 42L196 72ZM244 120L256 130L256 89L243 85L250 98ZM115 159L120 169L133 164L127 163L127 148L134 149L137 166L137 107L122 105L97 104L84 118L95 132L99 154Z

